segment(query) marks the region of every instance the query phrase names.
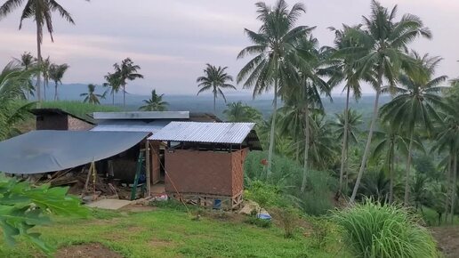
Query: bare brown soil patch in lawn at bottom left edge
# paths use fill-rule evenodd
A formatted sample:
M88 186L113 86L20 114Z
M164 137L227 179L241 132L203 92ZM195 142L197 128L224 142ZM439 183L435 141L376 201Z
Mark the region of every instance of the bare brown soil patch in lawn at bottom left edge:
M123 258L121 254L99 243L66 246L60 248L55 255L57 258Z

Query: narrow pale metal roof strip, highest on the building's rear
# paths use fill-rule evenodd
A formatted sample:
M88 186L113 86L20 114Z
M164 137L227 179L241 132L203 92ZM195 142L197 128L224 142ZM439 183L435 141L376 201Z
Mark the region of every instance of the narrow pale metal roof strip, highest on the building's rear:
M188 119L189 111L94 112L94 119Z

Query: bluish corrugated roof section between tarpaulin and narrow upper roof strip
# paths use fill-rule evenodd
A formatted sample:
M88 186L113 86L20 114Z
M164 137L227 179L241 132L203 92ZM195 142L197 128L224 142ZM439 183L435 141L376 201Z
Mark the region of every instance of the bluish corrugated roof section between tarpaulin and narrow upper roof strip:
M91 131L98 132L148 132L157 133L169 124L171 120L161 119L151 122L141 120L103 120Z

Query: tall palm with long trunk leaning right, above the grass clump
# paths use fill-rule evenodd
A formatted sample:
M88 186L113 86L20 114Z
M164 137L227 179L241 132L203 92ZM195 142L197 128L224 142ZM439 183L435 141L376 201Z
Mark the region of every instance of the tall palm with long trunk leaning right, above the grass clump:
M358 185L366 167L370 152L371 140L379 111L379 97L383 80L389 85L395 85L401 70L407 74L413 72L414 61L407 55L407 44L413 42L417 36L431 38L431 31L423 28L423 21L412 14L405 14L396 21L397 5L391 12L376 1L372 1L370 17L363 18L362 28L350 28L346 36L355 37L359 44L342 50L343 53L361 54L363 57L355 61L356 70L360 75L373 74L372 85L376 95L374 97L373 118L368 131L368 138L362 157L358 177L350 202L357 195Z

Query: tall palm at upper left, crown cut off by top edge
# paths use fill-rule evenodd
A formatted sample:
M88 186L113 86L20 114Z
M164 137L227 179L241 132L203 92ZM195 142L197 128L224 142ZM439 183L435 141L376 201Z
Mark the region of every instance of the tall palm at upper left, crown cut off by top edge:
M64 20L67 20L71 24L75 24L75 21L72 19L70 13L64 9L60 4L55 0L7 0L2 6L0 6L0 19L3 19L8 14L13 12L16 8L19 8L20 5L24 4L24 9L20 15L20 27L22 28L22 21L26 19L31 19L36 22L36 59L37 64L40 67L42 65L42 42L43 42L43 28L46 26L50 36L51 41L54 42L52 37L53 27L52 27L52 12L59 12L60 17ZM36 77L36 95L38 101L42 101L41 95L41 77L40 73Z

